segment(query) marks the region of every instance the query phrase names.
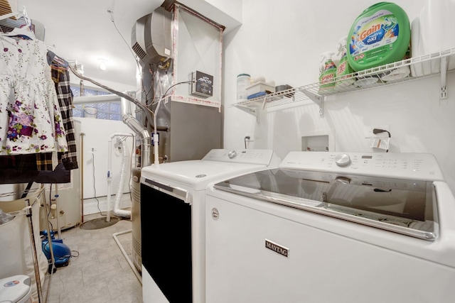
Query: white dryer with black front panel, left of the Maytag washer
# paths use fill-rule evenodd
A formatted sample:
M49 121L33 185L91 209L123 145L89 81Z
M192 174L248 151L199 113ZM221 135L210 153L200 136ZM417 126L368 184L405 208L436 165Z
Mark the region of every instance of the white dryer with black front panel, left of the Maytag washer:
M205 188L277 167L272 150L214 149L202 160L141 170L142 292L145 303L205 302Z

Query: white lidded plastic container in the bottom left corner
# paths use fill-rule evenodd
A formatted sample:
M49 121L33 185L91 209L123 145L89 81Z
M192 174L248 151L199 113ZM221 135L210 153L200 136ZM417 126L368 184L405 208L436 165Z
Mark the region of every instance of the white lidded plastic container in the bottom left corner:
M30 277L14 275L0 279L0 302L32 303Z

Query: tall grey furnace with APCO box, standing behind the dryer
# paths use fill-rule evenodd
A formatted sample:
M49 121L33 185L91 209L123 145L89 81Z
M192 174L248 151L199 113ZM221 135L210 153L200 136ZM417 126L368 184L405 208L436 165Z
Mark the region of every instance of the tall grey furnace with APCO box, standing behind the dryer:
M222 148L223 30L180 4L159 7L139 18L132 28L132 48L141 75L136 99L153 112L137 111L135 116L151 138L149 145L140 145L137 154L143 159L133 172L133 263L139 271L140 203L149 202L139 189L141 169L156 159L161 163L200 160L210 150ZM144 151L151 153L144 156Z

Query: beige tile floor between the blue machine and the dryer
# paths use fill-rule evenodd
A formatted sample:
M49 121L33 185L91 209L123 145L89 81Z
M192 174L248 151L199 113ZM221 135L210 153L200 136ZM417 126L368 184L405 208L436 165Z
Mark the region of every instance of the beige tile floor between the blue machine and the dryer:
M99 217L84 216L84 221ZM130 219L121 219L105 228L75 226L61 231L72 258L68 266L46 273L43 303L142 303L141 277L120 248L132 260L131 228Z

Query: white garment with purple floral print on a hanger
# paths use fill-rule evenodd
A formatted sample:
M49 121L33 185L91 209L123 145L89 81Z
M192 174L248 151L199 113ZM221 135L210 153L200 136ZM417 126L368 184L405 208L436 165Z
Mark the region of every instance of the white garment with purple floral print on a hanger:
M0 35L0 155L68 151L47 51Z

